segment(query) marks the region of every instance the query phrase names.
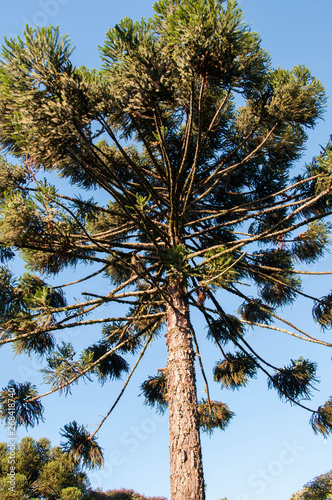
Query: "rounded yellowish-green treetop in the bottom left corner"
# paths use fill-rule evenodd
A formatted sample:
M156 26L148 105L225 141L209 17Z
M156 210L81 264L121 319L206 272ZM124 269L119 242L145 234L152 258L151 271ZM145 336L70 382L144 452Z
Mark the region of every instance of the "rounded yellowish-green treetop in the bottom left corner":
M0 491L3 500L82 500L87 476L60 447L46 438L25 437L12 447L1 443ZM15 458L13 458L15 457ZM11 467L13 467L11 472ZM11 485L10 480L14 481Z

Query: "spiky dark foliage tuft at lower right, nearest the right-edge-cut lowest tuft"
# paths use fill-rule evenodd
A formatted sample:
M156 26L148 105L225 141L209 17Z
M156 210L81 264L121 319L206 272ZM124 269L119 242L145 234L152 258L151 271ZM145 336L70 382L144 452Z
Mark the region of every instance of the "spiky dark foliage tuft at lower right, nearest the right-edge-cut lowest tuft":
M269 379L269 389L275 388L281 399L310 399L311 389L318 382L315 377L316 369L316 363L307 359L302 357L296 361L292 359L290 365L276 371Z

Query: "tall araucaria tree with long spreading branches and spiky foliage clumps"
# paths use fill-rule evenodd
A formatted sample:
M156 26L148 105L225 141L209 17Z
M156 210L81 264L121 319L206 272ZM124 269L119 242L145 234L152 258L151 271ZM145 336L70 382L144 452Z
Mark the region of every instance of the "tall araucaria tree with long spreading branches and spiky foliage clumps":
M49 392L127 373L124 390L165 329L167 366L142 391L147 403L168 407L172 500L201 500L200 427L224 428L233 414L210 399L190 311L201 313L219 351L216 382L238 388L263 371L281 398L306 406L316 364L299 357L274 366L245 332L263 327L331 347L278 308L305 295L297 263L315 262L328 244L332 148L291 172L323 113L324 89L304 66L272 69L234 0L159 0L154 10L153 19L108 31L101 71L75 68L69 40L54 28L6 41L0 141L12 156L1 161L1 258L18 251L27 273L2 268L1 343L45 356ZM54 173L75 194L53 186ZM98 195L84 197L92 189ZM68 267L86 271L76 280L81 301L66 302L72 283L59 285ZM88 293L96 275L107 294ZM221 290L236 309L241 300L238 311L226 310ZM330 327L332 294L305 296ZM79 355L56 344L57 332L91 325L100 325L100 340ZM125 356L135 353L130 368ZM201 401L195 359L206 382ZM2 418L10 421L14 398L16 424L33 425L43 419L42 396L10 381ZM312 410L311 423L331 432L332 399ZM99 428L68 424L65 450L100 464Z

